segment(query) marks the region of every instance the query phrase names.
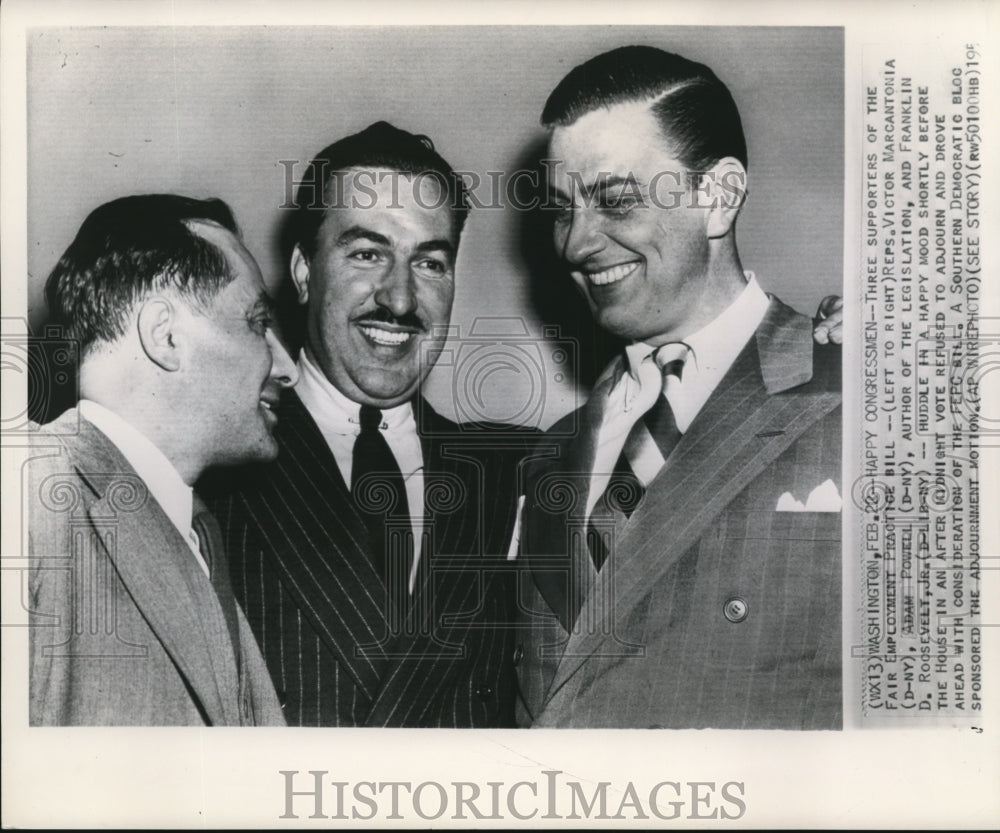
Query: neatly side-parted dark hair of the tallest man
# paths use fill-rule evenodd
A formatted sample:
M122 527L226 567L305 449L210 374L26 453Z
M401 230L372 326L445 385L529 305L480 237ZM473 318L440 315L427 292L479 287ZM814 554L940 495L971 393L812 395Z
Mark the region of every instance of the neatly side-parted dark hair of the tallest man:
M622 46L575 67L552 91L542 124L568 127L602 107L655 99L652 112L673 154L690 171L726 156L747 165L736 102L704 64L651 46Z

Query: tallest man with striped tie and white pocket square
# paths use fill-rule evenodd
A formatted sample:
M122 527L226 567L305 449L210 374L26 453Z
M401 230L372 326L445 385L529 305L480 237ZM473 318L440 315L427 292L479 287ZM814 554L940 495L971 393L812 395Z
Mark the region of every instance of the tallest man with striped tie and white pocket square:
M529 462L520 721L839 728L840 354L744 272L736 105L625 47L542 120L556 247L626 347Z

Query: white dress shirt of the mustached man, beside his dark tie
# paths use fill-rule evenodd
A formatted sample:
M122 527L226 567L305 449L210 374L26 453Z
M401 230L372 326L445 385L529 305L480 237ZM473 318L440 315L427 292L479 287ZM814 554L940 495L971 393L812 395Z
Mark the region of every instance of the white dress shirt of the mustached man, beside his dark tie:
M299 381L295 392L310 416L319 426L320 433L348 489L351 487L351 469L354 462L354 441L361 433L359 414L361 405L348 399L335 388L326 375L309 356L308 348L302 350L298 361ZM413 417L413 405L405 402L382 411L382 435L396 458L406 487L406 502L413 527L413 564L410 565L410 592L417 577L420 562L421 538L424 531L424 453Z

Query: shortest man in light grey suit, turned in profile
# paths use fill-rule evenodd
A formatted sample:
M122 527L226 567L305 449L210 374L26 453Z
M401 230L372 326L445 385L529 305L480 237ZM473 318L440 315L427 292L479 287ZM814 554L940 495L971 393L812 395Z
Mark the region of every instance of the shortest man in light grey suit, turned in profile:
M46 285L80 350L78 408L29 465L32 725L284 725L192 484L271 459L296 381L219 200L94 210Z

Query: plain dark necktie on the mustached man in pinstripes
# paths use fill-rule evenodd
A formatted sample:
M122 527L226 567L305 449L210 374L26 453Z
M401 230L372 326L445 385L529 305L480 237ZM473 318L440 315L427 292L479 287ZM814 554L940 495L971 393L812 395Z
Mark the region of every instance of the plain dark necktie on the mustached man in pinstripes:
M393 535L387 521L409 521L406 485L392 449L379 431L382 412L362 405L360 422L351 462L351 496L368 529L375 568L385 579L396 610L405 614L410 597L409 536Z

